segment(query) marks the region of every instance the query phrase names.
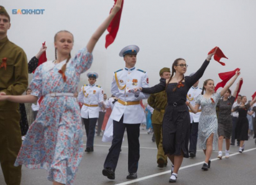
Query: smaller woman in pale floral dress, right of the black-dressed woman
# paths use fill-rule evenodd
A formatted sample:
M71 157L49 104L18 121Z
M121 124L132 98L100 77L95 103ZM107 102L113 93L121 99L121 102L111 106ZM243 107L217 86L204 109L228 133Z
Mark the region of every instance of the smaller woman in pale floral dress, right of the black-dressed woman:
M203 92L196 97L195 104L192 106L187 102L191 111L196 114L201 106L201 115L198 124L198 143L199 148L202 148L205 154L205 160L202 169L208 170L211 166L211 153L215 150L217 143L217 114L216 106L217 102L223 96L227 89L229 89L234 83L235 79L239 76L240 71L235 73L235 76L219 93L214 93L214 81L213 79L207 79L204 81ZM204 93L205 91L205 93Z

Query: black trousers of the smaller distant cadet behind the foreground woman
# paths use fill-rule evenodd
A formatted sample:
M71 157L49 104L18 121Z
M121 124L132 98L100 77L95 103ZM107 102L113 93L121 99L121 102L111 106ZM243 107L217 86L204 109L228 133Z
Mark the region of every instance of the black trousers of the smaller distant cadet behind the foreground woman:
M94 135L95 135L95 127L98 118L83 118L83 122L85 124L85 132L87 137L86 147L93 147Z

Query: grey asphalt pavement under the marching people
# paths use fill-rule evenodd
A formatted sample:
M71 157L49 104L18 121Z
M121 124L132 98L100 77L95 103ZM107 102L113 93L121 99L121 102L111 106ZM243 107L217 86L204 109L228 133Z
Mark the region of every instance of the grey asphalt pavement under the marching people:
M145 130L141 130L140 135L140 161L138 170L138 179L127 180L127 139L122 144L122 152L119 163L116 168L116 179L111 181L101 174L103 163L111 143L101 142L101 137L95 137L94 152L85 153L78 170L75 185L125 185L125 184L169 184L170 164L166 168L157 168L156 146L151 141L152 135L148 135ZM84 137L86 140L86 137ZM85 142L84 142L85 143ZM197 185L197 184L256 184L256 145L254 139L250 138L245 142L244 153L238 153L239 147L231 147L231 156L229 159L223 158L217 160L217 151L212 155L211 168L208 171L202 171L201 166L204 161L203 151L198 150L196 158L185 159L178 174L177 185ZM4 183L4 177L0 169L0 184ZM22 185L50 185L47 181L47 172L44 169L28 169L22 167Z

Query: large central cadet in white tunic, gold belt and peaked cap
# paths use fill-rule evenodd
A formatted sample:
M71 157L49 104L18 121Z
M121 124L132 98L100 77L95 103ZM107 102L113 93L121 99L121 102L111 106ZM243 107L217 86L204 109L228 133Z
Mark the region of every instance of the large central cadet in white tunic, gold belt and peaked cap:
M114 72L111 93L118 98L118 101L115 103L110 116L113 120L113 140L103 169L103 175L109 179L115 179L114 171L116 170L125 130L127 130L129 145L129 175L127 179L137 178L140 158L140 124L146 122L144 109L140 106L140 100L149 97L149 94L129 92L136 87L149 87L147 73L135 68L138 52L139 47L136 45L129 45L123 48L119 56L124 57L126 68Z

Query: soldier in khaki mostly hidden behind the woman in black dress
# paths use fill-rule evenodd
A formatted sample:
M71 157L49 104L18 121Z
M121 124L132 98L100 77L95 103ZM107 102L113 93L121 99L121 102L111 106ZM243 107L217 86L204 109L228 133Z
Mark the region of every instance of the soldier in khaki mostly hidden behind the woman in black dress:
M170 79L171 73L170 68L162 68L160 70L161 78ZM153 132L155 134L155 142L157 143L157 163L159 168L167 166L167 156L163 151L162 145L162 122L163 114L165 114L165 107L167 106L167 96L165 91L160 93L151 94L147 100L149 106L153 107L152 125Z

